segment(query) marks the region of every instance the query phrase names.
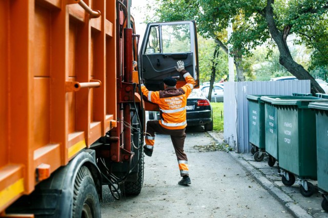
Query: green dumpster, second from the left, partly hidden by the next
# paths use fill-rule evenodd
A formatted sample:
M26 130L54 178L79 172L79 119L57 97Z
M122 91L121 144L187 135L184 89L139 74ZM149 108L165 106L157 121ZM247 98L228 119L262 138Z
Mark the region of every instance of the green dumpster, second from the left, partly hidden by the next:
M278 160L278 114L277 107L272 105L276 99L300 99L302 96L312 96L312 94L293 93L291 95L262 96L264 103L264 131L265 131L265 152L269 154L268 164L273 166Z

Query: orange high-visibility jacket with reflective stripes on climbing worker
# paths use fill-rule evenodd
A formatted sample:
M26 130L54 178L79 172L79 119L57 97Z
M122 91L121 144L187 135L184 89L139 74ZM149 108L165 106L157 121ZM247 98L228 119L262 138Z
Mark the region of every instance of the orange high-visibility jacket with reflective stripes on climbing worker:
M187 98L195 86L194 78L185 69L181 70L187 84L181 88L170 87L161 91L149 91L141 84L141 91L148 101L158 104L161 119L159 124L166 129L183 129L187 126Z

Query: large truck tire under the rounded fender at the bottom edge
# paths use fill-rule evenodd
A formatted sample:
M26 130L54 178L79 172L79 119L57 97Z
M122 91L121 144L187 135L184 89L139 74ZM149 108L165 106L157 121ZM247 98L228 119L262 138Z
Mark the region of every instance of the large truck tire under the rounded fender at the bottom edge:
M72 217L100 217L100 204L92 175L86 166L82 166L76 175L73 191Z

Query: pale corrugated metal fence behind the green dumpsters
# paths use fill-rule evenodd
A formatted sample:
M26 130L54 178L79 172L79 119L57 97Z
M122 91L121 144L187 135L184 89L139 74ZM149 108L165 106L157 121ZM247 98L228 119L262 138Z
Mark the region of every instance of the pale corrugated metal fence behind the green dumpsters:
M225 82L224 140L238 153L251 151L248 139L248 94L292 95L310 93L310 80Z

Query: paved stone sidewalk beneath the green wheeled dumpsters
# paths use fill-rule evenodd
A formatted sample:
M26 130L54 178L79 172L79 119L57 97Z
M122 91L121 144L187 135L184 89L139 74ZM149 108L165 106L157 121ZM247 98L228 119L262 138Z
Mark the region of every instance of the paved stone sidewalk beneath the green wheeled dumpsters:
M223 134L208 132L217 143L223 143ZM305 198L299 191L297 181L291 187L282 184L281 177L278 175L278 167L268 165L268 157L264 157L263 161L256 162L251 153L238 154L234 151L229 154L242 165L254 179L267 189L271 195L283 204L295 217L328 217L321 207L322 197L318 191L313 196ZM317 181L309 180L317 187Z

